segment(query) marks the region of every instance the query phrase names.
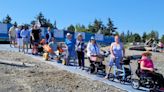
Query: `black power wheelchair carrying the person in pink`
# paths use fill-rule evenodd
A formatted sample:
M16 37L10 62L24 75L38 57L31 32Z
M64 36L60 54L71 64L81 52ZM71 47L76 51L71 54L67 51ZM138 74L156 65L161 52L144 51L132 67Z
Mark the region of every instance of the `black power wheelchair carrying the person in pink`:
M159 91L159 83L157 81L153 81L152 77L148 77L140 71L140 62L138 61L138 68L136 70L136 75L139 79L132 79L131 85L134 89L139 89L139 87L145 87L151 89L150 91L154 92L154 90ZM155 69L157 71L157 69Z

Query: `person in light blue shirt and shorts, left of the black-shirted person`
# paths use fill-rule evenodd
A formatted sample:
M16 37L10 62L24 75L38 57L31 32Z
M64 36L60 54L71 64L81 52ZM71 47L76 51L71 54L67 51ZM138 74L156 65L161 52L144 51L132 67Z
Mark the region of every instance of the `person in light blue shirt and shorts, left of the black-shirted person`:
M29 39L30 39L30 35L29 35L29 30L28 30L28 26L24 26L24 29L21 31L21 37L22 37L22 41L23 41L23 52L24 53L28 53L28 43L29 43ZM25 46L26 46L26 52L25 52Z

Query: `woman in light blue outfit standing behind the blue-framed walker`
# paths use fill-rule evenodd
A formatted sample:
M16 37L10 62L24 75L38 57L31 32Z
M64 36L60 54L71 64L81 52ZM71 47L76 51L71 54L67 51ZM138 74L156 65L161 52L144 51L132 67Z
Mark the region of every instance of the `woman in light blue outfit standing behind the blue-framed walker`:
M125 56L125 48L122 42L120 42L119 36L115 36L115 42L111 44L110 47L110 62L109 62L109 69L107 70L107 74L105 78L108 78L108 75L111 71L113 64L115 63L117 68L121 68L120 62L123 60Z

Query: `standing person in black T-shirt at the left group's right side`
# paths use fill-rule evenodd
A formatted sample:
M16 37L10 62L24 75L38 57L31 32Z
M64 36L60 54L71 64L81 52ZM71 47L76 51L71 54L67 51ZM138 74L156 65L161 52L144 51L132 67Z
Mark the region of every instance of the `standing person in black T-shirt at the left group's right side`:
M32 30L32 41L34 42L34 45L32 48L33 55L36 55L38 53L37 47L38 47L40 38L41 38L40 29L37 27L37 25L34 25L34 29Z

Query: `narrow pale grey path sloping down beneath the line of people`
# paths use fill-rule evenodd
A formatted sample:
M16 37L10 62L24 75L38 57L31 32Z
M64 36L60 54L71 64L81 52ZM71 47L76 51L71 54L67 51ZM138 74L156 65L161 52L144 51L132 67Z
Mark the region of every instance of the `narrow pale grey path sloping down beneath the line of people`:
M18 50L16 48L11 48L9 45L3 45L3 44L0 44L0 50L6 50L6 51L12 51L12 52L18 52ZM29 50L30 51L30 50ZM117 82L111 82L111 81L108 81L108 80L105 80L103 78L100 78L96 75L91 75L89 74L88 72L84 71L84 70L80 70L76 67L73 67L73 66L64 66L62 64L58 64L56 62L47 62L47 61L44 61L42 57L40 56L33 56L33 55L30 55L30 54L27 54L28 56L32 57L32 58L35 58L35 59L38 59L40 60L41 62L45 62L47 64L51 64L53 65L54 67L58 67L59 69L62 69L62 70L67 70L71 73L75 73L75 74L79 74L81 76L85 76L87 78L90 78L92 80L97 80L97 81L101 81L101 82L104 82L108 85L113 85L117 88L121 88L123 90L126 90L128 92L145 92L146 89L143 89L142 90L135 90L131 87L131 85L122 85L120 83L117 83Z

